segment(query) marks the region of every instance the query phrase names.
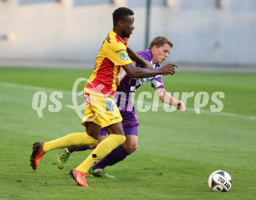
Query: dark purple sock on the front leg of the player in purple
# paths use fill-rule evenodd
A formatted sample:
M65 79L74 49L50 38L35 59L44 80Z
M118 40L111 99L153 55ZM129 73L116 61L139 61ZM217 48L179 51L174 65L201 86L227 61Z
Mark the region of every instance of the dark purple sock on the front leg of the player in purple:
M115 163L118 163L125 159L127 155L130 155L127 153L125 148L123 148L122 145L120 145L115 150L111 151L110 154L106 155L104 158L102 158L99 162L97 162L93 166L93 170L95 169L104 169L106 166L115 165Z

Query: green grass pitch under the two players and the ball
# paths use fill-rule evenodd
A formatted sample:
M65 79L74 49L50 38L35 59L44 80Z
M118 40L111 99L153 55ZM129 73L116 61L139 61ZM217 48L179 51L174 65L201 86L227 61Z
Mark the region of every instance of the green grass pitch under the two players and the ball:
M31 144L82 132L72 104L74 81L91 70L0 68L0 199L255 199L256 197L256 74L183 72L163 78L168 92L223 91L221 113L137 112L139 147L115 166L115 180L88 177L90 188L76 185L69 170L87 157L76 152L66 168L56 167L59 150L30 167ZM83 84L79 85L83 89ZM45 91L47 107L39 118L31 107L33 94ZM49 112L49 94L63 92L62 110ZM151 91L151 84L137 91ZM150 100L147 100L150 101ZM83 98L79 97L79 102ZM162 105L162 104L160 104ZM193 108L194 99L187 102ZM208 176L215 170L232 176L229 192L212 192Z

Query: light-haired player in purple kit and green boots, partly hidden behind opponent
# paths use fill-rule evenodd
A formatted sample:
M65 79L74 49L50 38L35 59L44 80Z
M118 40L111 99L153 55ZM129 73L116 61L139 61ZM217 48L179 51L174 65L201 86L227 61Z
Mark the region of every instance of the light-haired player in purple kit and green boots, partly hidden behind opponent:
M167 59L172 47L173 44L169 41L169 39L165 37L156 37L152 40L148 50L137 52L137 54L143 57L143 59L150 61L152 68L158 68L160 67L160 64ZM136 66L139 67L137 64ZM125 71L122 70L119 74L119 80L122 81L120 81L120 84L118 82L119 86L117 92L123 92L126 94L125 102L122 102L120 98L117 101L118 106L125 103L125 107L120 110L120 114L123 117L122 125L123 130L125 130L126 141L89 169L88 173L97 177L114 178L106 173L104 168L106 166L115 165L116 163L122 161L127 157L127 155L130 155L138 148L137 126L139 123L136 117L135 109L131 104L130 95L133 94L138 87L151 81L151 86L155 89L161 101L175 106L178 110L184 110L184 103L180 100L174 99L168 92L166 92L163 86L162 75L157 75L150 78L130 78L128 75L126 75ZM98 143L105 139L106 133L107 132L105 129L101 129ZM57 158L58 168L62 169L65 166L65 163L72 152L84 151L91 148L95 148L95 146L63 148Z

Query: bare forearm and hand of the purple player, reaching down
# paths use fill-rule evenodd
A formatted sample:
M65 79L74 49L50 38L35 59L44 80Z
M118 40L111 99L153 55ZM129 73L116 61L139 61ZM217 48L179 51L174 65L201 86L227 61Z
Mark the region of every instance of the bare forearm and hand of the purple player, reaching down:
M155 88L155 91L157 92L159 99L163 103L174 106L177 108L177 110L180 110L180 111L185 110L185 105L183 101L176 100L175 98L173 98L173 96L170 95L169 92L166 92L165 88Z

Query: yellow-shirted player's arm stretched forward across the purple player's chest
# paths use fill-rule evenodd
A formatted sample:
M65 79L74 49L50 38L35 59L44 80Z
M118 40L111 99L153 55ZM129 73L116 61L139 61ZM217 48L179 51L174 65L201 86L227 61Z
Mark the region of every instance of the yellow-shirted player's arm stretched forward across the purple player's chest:
M123 69L126 71L127 75L129 75L130 78L147 78L154 77L156 75L175 74L175 68L177 66L175 64L166 64L161 68L145 69L135 67L134 63L130 63L121 67L123 67Z

